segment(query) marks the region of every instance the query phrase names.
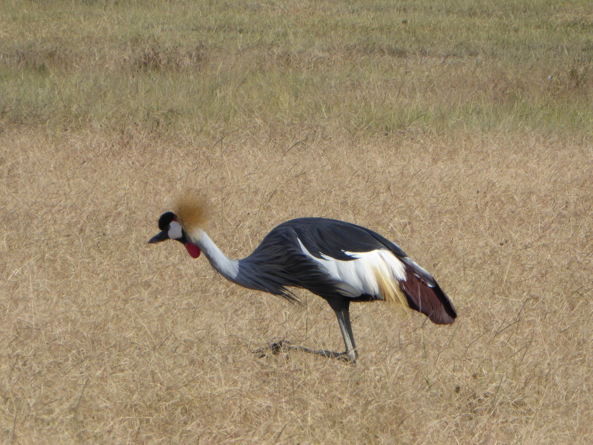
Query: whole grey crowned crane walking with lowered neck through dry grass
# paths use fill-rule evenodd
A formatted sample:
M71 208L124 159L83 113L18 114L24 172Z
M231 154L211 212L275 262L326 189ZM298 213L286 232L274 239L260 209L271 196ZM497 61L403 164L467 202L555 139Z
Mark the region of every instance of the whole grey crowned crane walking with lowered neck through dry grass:
M197 196L197 195L196 195ZM230 259L203 230L205 205L196 196L179 201L158 220L161 232L148 243L177 240L193 258L203 252L212 267L243 287L297 301L290 288L324 298L336 313L345 352L311 349L279 342L270 345L355 361L358 357L350 303L382 300L419 311L433 323L449 325L457 313L431 274L396 244L368 228L326 218L283 222L264 237L247 258Z

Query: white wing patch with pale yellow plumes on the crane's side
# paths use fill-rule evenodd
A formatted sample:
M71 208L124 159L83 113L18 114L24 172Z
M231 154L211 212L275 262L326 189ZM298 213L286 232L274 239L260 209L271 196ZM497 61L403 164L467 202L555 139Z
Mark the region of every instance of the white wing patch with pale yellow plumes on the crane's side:
M389 250L343 251L346 255L355 258L343 261L323 254L321 254L323 258L316 258L305 248L301 240L298 241L303 253L327 271L347 297L368 294L386 301L396 299L398 303L407 306L406 298L401 294L398 284L398 281L405 281L406 269ZM402 298L403 301L401 301Z

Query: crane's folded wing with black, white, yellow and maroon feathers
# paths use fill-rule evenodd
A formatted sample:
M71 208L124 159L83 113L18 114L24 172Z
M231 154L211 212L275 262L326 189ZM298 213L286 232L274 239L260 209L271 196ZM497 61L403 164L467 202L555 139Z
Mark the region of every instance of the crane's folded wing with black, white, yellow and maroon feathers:
M403 304L438 324L457 317L433 276L380 234L323 218L301 218L290 225L301 252L326 271L343 296Z

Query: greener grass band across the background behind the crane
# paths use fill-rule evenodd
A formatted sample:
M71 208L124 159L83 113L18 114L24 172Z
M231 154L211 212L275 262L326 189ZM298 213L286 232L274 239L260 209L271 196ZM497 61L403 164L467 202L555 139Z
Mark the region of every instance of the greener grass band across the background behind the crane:
M5 2L0 125L590 135L589 9Z

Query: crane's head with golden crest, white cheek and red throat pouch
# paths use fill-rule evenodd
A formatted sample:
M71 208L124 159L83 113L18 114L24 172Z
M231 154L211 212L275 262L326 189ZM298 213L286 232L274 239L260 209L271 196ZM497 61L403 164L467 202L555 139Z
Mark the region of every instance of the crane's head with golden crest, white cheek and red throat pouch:
M198 258L200 227L206 221L206 200L197 192L186 192L177 199L174 212L165 212L158 218L160 233L148 240L149 244L165 240L177 240L183 244L192 258Z

